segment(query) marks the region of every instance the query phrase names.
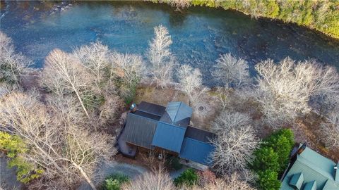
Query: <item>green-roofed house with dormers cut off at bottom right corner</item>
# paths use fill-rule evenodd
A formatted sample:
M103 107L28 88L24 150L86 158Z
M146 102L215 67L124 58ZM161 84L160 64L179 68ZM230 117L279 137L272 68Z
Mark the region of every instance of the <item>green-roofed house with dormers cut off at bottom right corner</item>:
M338 190L339 163L301 144L283 176L281 190Z

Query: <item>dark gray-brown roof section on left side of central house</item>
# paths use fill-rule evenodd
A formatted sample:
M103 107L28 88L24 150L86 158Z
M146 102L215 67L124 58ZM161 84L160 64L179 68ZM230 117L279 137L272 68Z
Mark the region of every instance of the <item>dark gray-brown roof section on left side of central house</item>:
M126 120L124 138L126 142L153 149L152 140L157 121L141 115L129 113Z

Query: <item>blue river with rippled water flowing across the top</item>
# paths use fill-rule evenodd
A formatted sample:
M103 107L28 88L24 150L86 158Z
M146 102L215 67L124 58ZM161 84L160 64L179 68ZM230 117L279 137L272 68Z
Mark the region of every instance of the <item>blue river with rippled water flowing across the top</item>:
M221 53L232 53L251 65L286 56L295 60L316 58L339 67L339 41L296 25L267 19L254 20L234 11L192 7L174 11L165 4L145 2L16 2L1 1L3 32L17 51L42 68L55 48L102 41L123 53L145 53L153 27L165 25L172 35L172 52L179 63L201 68L204 82L213 85L210 71Z

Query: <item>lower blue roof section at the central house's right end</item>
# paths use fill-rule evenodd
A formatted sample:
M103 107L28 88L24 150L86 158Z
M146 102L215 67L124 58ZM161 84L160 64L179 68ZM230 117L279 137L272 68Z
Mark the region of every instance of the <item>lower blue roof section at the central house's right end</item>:
M186 137L184 138L179 157L203 165L210 165L209 157L210 153L214 151L214 148L213 144Z

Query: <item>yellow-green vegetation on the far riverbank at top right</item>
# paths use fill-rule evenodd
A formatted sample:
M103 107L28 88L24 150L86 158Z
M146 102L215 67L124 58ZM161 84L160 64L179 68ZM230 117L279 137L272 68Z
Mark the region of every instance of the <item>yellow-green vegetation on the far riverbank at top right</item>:
M270 18L296 23L339 39L339 1L304 0L145 0L165 3L178 10L189 6L224 8L251 15L252 18Z

